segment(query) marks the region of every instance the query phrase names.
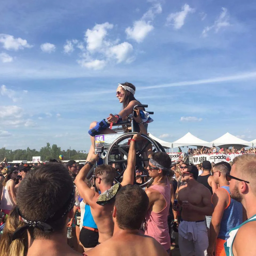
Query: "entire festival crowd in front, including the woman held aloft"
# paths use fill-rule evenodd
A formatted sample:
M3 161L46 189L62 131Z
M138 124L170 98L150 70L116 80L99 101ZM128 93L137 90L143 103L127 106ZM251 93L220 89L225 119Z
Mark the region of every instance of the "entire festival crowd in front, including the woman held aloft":
M123 109L107 120L134 119L146 134L140 110L132 115L139 103L134 93L134 85L119 84ZM237 156L232 167L209 161L195 166L172 162L146 144L141 169L136 153L143 138L136 133L119 183L117 166L102 164L94 153L98 132L113 131L104 120L91 123L84 165L0 163L0 256L167 256L173 246L181 256L255 255L256 154ZM152 178L144 189L143 172Z

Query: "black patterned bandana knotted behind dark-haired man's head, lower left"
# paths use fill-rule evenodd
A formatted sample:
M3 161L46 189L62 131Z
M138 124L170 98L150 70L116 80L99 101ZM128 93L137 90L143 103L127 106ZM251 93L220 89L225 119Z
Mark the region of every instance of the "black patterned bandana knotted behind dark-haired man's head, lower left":
M66 203L58 209L55 213L53 213L50 217L45 219L44 221L38 221L38 220L27 220L20 212L18 206L16 206L16 211L18 212L18 215L22 218L23 222L26 224L22 226L21 228L18 228L12 236L12 241L14 241L17 238L21 238L23 233L30 227L40 229L41 231L44 231L45 233L49 233L54 231L52 226L48 224L47 222L53 222L57 219L63 218L67 213L69 213L75 205L75 189L73 188L72 192L70 193L69 199L66 201Z

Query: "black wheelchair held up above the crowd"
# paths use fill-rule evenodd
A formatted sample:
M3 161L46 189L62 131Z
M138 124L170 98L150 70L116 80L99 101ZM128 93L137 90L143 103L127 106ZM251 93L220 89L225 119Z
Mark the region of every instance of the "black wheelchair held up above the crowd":
M133 108L133 115L135 115L136 108L147 108L148 105L135 105ZM153 115L154 112L149 112L150 115ZM103 163L107 165L112 165L116 168L119 166L119 170L116 171L116 176L114 182L121 182L123 178L123 173L127 167L127 158L129 152L129 140L132 139L133 135L139 132L139 126L132 119L132 121L122 121L119 124L113 124L117 126L113 131L114 134L102 134L95 136L95 154L99 154L103 159ZM122 126L122 127L120 127ZM124 127L131 127L130 132L124 132ZM151 139L145 134L141 134L143 140L139 143L136 143L136 167L134 170L134 184L139 185L144 188L153 182L153 178L150 178L146 167L148 166L149 158L146 155L146 150L151 147L154 152L165 152L165 149L157 141ZM142 172L142 175L136 176L136 169L139 169ZM91 174L94 174L91 172ZM137 183L136 178L142 178L142 183ZM90 178L89 183L91 183L92 178Z

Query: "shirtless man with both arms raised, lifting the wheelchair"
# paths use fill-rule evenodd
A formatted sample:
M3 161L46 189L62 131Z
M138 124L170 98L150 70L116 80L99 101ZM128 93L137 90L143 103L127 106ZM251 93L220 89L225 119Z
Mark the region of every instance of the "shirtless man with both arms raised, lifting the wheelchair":
M127 168L123 174L123 180L121 186L127 184L133 184L134 181L134 170L136 162L136 139L140 137L140 134L135 134L133 139L130 141L130 149L127 159ZM98 154L94 154L93 158L89 161L89 164L80 170L75 179L80 196L90 205L91 214L98 228L99 239L98 243L103 243L107 239L113 236L114 222L112 218L112 211L114 203L105 204L104 206L97 204L97 200L100 194L85 183L85 178L90 171L92 165L97 161ZM104 193L111 188L115 178L115 168L109 165L99 165L95 169L95 186L98 191Z

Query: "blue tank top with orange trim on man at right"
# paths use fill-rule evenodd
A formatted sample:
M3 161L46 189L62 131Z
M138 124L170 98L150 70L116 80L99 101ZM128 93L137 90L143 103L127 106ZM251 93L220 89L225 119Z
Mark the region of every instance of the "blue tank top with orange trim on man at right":
M223 188L229 195L229 205L223 212L218 235L218 238L227 240L229 238L229 230L243 222L243 205L230 198L229 186L221 186L219 188Z

